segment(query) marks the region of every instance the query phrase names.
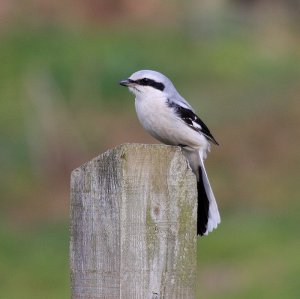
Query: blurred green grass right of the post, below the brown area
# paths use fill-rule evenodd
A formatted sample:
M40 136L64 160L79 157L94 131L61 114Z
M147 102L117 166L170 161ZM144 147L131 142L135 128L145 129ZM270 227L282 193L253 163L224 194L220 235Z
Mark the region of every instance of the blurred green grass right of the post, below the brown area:
M198 242L199 298L298 298L296 212L224 217Z

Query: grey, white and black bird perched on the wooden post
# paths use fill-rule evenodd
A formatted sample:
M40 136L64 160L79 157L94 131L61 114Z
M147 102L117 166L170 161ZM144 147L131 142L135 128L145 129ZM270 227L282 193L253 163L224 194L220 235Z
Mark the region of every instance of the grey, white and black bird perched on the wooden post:
M142 127L160 142L179 146L197 178L197 235L207 235L221 222L204 167L210 145L219 145L172 81L154 70L140 70L119 82L135 95Z

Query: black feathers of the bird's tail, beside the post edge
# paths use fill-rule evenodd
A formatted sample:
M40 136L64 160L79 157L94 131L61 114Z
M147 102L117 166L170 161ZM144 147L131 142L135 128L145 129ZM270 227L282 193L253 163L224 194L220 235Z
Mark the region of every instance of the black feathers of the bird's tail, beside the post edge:
M209 200L203 182L203 173L199 166L198 189L198 213L197 213L197 235L203 236L207 230Z

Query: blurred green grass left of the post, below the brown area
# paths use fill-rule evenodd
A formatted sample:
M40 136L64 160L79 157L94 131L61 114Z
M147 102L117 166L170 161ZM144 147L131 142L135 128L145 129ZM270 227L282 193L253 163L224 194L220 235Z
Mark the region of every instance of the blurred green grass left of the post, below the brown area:
M1 298L70 298L66 223L2 225L0 257Z

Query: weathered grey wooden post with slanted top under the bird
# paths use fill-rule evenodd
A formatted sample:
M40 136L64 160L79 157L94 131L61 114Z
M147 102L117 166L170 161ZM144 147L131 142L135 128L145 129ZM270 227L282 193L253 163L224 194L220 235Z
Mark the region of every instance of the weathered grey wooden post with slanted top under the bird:
M194 299L196 179L178 147L125 144L72 172L72 299Z

